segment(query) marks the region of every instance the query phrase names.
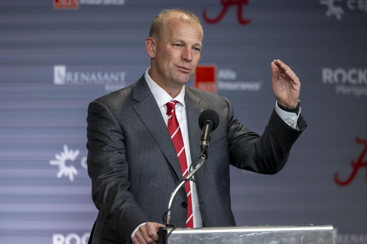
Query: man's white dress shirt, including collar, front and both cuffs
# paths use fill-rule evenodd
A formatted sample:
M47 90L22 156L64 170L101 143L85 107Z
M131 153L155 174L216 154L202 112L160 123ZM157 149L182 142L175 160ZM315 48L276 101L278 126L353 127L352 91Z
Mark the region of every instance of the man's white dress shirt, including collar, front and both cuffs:
M187 167L190 169L191 166L191 155L190 155L190 146L189 146L189 135L188 135L188 127L187 127L187 117L186 117L186 107L185 107L185 86L182 86L181 92L174 98L172 98L163 88L157 85L156 82L150 78L148 71L150 67L145 71L144 77L146 83L148 84L150 91L153 93L153 96L158 104L158 107L163 116L164 122L166 122L166 126L168 125L168 115L166 103L169 101L176 100L178 103L175 106L176 117L178 120L178 124L181 129L183 146L185 147L186 152L186 162ZM281 110L277 104L275 104L276 113L287 123L287 125L291 126L294 129L298 130L297 120L299 114L301 113L301 108L299 109L298 115L291 112L286 112ZM201 218L200 209L199 209L199 199L197 197L196 185L195 182L190 181L190 189L191 189L191 200L192 200L192 218L193 218L193 227L200 228L203 227L203 219ZM139 227L145 225L146 223L142 223L131 233L131 239L135 236L135 233L138 231Z

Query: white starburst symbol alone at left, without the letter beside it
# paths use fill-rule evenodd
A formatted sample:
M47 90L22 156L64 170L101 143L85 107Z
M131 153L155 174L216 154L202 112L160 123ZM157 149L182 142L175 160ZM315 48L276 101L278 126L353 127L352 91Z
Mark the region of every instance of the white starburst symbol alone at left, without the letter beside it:
M66 160L74 161L76 157L79 155L79 150L76 149L73 151L72 149L68 149L67 145L64 145L64 151L60 154L55 154L55 159L50 160L51 165L59 166L59 172L57 173L57 178L61 178L63 175L66 177L69 176L70 181L74 181L74 175L78 174L78 171L75 169L73 164L67 166L65 164Z

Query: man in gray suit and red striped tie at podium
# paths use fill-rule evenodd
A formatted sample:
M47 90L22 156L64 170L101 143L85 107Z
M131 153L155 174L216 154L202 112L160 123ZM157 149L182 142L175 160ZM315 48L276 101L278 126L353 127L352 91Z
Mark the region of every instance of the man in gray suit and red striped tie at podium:
M178 227L187 227L189 221L194 228L235 226L229 164L275 174L305 129L299 79L280 60L271 63L277 103L261 137L241 125L229 100L185 86L199 62L202 39L195 15L177 9L162 11L145 42L151 67L135 84L90 103L87 163L92 199L99 210L92 243L157 241L170 194L185 174L175 134L167 130L172 116L177 117L187 168L200 156L200 113L212 109L220 118L196 183L181 188L173 202L172 223ZM173 101L175 114L170 115L166 104Z

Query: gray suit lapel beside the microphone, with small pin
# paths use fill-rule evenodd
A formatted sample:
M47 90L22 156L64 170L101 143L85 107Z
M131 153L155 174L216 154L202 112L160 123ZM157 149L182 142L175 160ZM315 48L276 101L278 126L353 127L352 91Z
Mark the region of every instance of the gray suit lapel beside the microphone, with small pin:
M185 87L185 106L191 162L193 166L195 166L195 161L200 157L201 130L199 127L199 116L208 106L204 101L201 101L199 97L192 93L188 87Z

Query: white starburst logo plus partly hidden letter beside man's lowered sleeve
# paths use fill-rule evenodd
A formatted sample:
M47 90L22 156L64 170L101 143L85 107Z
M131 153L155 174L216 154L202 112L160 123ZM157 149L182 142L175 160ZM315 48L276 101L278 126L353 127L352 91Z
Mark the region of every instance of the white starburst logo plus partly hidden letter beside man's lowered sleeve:
M68 145L63 146L63 151L59 154L55 154L55 159L50 160L50 164L53 166L58 166L59 171L57 172L57 178L63 176L68 177L71 182L74 181L74 177L78 174L78 170L75 168L74 164L77 157L80 154L79 149L69 149ZM87 169L87 157L84 156L80 159L80 164L83 169Z

